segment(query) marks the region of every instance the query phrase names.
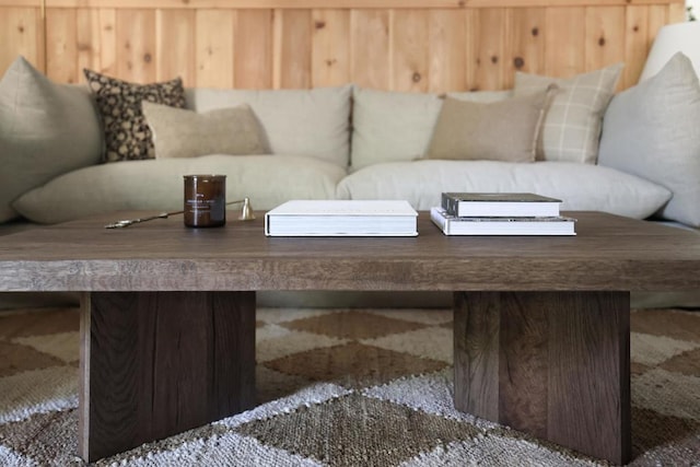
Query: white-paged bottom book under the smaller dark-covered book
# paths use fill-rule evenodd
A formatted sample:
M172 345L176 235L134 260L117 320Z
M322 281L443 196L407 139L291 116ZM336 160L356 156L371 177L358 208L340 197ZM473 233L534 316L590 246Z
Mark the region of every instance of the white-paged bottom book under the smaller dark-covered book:
M432 208L430 219L445 235L575 235L576 220L545 218L458 218Z

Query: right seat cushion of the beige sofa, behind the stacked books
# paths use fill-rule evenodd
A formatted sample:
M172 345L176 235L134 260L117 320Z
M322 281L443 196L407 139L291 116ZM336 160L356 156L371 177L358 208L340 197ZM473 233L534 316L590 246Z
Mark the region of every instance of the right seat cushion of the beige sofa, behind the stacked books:
M406 199L440 206L443 191L536 192L563 210L605 211L644 219L670 197L666 188L622 172L574 162L416 161L361 168L338 185L347 199Z

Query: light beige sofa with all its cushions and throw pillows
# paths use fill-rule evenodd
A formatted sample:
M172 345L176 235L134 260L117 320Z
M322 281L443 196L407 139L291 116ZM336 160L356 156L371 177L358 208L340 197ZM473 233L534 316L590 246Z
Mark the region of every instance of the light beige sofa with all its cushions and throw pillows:
M506 91L183 89L86 70L58 84L18 58L0 81L0 232L100 212L182 209L183 175L228 199L406 199L532 191L568 211L700 226L700 85L675 56L615 93L621 65ZM147 104L142 105L145 101Z

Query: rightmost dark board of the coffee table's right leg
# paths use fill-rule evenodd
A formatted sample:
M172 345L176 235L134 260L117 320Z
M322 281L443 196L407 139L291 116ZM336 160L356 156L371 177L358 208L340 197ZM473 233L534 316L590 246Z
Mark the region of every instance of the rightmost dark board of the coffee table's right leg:
M557 293L548 303L548 437L627 464L631 454L629 293Z

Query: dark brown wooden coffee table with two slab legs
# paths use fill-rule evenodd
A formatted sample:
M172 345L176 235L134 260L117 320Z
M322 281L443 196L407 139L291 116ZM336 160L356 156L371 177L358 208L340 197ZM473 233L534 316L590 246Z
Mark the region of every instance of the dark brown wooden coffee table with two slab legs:
M629 291L700 288L700 235L575 212L578 236L269 238L119 213L2 237L1 291L82 294L79 450L94 460L254 405L255 292L452 291L455 406L630 459Z

